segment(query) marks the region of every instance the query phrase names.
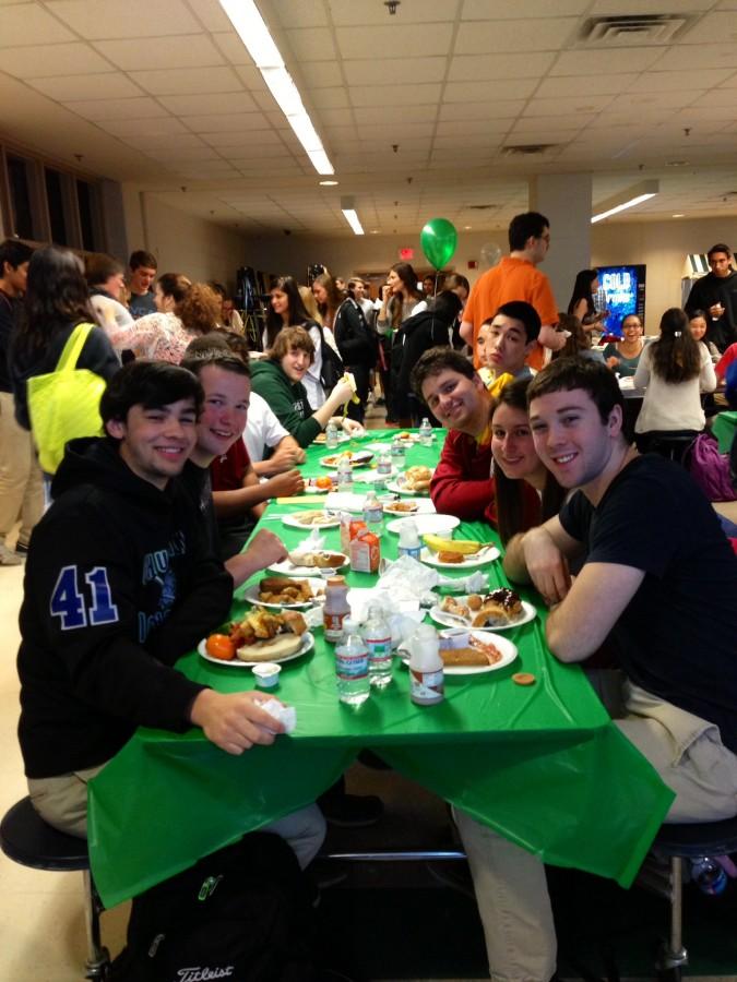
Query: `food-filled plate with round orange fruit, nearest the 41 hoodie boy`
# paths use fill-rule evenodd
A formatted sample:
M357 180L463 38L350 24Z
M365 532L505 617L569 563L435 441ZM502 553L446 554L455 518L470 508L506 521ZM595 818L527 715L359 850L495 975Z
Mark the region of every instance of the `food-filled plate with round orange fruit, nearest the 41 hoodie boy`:
M251 668L264 661L292 661L314 647L314 637L296 610L274 613L254 607L227 634L203 637L198 651L205 661L230 668Z

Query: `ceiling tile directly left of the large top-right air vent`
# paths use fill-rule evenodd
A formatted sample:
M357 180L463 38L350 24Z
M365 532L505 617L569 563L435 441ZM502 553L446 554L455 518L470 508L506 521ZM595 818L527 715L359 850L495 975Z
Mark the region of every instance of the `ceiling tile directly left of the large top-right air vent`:
M494 21L461 24L454 55L486 55L495 51L556 51L575 28L574 17L540 17L525 21ZM526 59L523 59L526 60ZM532 70L536 70L533 64Z

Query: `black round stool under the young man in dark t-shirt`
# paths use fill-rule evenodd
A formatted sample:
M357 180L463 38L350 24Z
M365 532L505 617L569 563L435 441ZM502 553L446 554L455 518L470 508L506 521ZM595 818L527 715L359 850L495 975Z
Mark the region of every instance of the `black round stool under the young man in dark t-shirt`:
M691 825L663 825L655 837L652 852L670 860L665 882L643 870L640 882L670 902L670 936L661 948L658 979L680 982L681 968L688 965L688 951L682 941L682 866L685 859L700 855L723 855L737 851L737 817L723 822L700 822Z

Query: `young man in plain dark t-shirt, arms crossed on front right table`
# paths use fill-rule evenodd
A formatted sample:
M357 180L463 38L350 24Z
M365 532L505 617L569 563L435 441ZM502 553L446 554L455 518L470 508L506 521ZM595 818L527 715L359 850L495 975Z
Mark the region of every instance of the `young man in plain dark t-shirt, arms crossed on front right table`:
M622 397L606 366L561 358L527 398L537 454L573 493L558 516L511 539L504 571L549 606L546 640L560 661L614 646L623 673L616 723L675 792L667 821L730 818L737 556L689 475L656 454L641 457L623 438ZM573 560L583 561L574 580ZM543 863L471 816L456 818L492 978L550 979L556 936Z

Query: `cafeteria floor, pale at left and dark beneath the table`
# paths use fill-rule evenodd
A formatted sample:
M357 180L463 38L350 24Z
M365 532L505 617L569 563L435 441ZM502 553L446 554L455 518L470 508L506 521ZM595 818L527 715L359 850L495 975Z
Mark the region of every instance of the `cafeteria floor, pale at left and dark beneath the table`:
M371 428L381 428L383 412L372 410L367 422ZM724 511L732 512L730 517L737 520L737 506L729 505ZM26 793L15 736L19 693L15 651L22 588L22 566L0 567L0 814L4 814L14 801ZM387 801L387 818L377 830L367 830L367 838L369 834L379 836L384 840L382 845L390 845L394 835L400 833L400 822L406 828L413 823L415 812L421 813L427 823L424 835L429 831L430 839L426 841L435 845L433 836L448 833L442 804L431 800L421 789L408 789L407 782L395 775L356 765L348 775L348 789L365 793L380 791ZM407 815L411 823L406 822ZM336 845L346 845L354 835L357 834L342 833ZM447 888L443 881L449 877L460 889ZM590 883L586 881L582 887L586 898L591 890ZM616 889L603 882L599 884L603 890ZM456 863L436 863L430 869L420 869L420 864L415 863L405 863L393 870L380 864L368 865L360 871L354 866L348 871L346 881L323 891L322 911L325 918L332 919L334 915L344 924L349 921L361 923L361 929L352 933L353 938L359 942L357 950L346 951L346 958L335 967L342 967L349 974L353 972L361 982L371 979L401 979L403 982L443 979L448 982L454 978L469 982L474 978L488 978L484 974L484 950L475 905L465 895L465 889L467 883ZM713 907L709 906L713 901L706 900L704 905L705 898L696 898L692 903L694 918L690 923L691 908L687 907L687 943L692 954L697 948L705 949L713 962L706 965L701 958L693 958L694 969L703 968L701 975L691 975L691 979L737 982L734 946L732 955L720 960L720 951L727 946L727 938L734 945L734 926L728 927L724 921L730 917L734 925L737 912L735 894L737 885L732 884L727 895L715 901ZM621 899L617 905L613 896L604 897L605 909L609 905L609 909L615 911L617 907L629 906ZM633 891L631 896L633 901L647 906L644 913L640 909L632 912L628 919L630 927L639 923L651 926L654 923L655 927L664 924L664 901L651 898L641 890ZM81 897L80 874L38 872L19 866L0 854L0 982L21 979L80 982L85 957ZM579 910L585 907L586 903L582 903ZM700 909L703 909L702 913ZM700 924L696 924L697 914L700 915ZM122 946L127 919L128 905L103 915L103 937L112 954ZM412 922L415 924L412 925ZM439 925L444 931L437 930ZM414 931L414 927L417 930ZM622 930L627 930L627 925ZM361 944L364 931L366 941ZM627 969L632 946L650 945L654 936L649 933L643 941L634 938L634 934L623 934L616 938L620 968ZM637 972L630 970L630 978L633 974L652 978L646 968L652 963L649 953L635 962L640 968ZM371 966L379 968L371 973ZM569 966L562 965L561 969L567 979L581 978ZM594 970L602 971L601 966L595 966ZM421 979L418 978L420 973Z

